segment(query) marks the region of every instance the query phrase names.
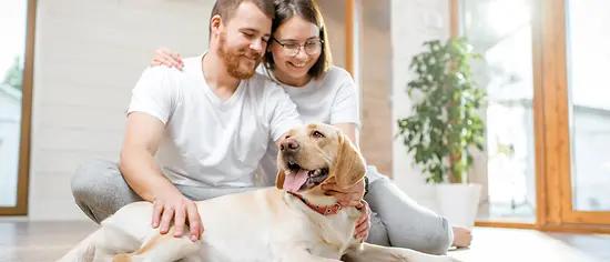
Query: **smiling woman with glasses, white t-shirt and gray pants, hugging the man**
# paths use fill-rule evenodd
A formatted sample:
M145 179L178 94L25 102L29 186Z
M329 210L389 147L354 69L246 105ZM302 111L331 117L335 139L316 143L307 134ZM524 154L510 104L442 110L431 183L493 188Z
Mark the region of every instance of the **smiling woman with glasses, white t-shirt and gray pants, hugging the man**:
M258 73L284 87L303 121L322 121L345 132L356 145L359 128L357 89L347 71L332 66L326 28L313 0L278 0L272 39ZM157 50L151 66L182 69L180 54ZM261 170L273 184L277 150L270 141ZM370 231L366 242L444 254L450 245L468 246L470 231L450 228L444 218L418 205L375 167L368 167Z

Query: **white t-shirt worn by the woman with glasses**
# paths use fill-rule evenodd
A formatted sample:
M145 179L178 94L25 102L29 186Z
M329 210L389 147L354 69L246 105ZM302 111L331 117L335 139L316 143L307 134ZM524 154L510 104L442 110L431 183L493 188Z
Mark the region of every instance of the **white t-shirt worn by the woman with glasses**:
M267 77L267 71L258 67L258 73ZM270 71L271 79L275 77ZM289 87L278 82L296 104L301 119L305 123L324 122L328 124L355 123L360 128L358 90L352 75L345 69L332 67L321 80L312 80L304 87ZM273 144L273 141L268 141ZM265 185L273 185L277 174L277 148L268 147L261 160L261 171L266 179Z

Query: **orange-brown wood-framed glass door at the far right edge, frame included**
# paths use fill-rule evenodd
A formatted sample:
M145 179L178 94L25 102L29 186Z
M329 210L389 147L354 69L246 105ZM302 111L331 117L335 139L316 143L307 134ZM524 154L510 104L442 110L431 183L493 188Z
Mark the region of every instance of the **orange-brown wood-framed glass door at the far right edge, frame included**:
M547 221L610 225L610 1L539 10Z

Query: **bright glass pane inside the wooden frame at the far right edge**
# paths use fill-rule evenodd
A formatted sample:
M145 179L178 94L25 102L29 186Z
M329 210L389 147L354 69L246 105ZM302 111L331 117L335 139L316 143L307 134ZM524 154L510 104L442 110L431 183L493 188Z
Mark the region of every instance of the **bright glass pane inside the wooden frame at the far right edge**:
M610 1L566 0L566 222L610 224ZM568 205L569 203L569 205Z

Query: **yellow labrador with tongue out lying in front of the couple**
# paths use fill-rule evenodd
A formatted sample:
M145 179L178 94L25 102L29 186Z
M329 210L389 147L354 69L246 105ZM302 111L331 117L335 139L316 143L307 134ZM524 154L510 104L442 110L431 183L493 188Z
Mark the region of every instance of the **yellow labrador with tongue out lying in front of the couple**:
M153 205L136 202L104 220L59 261L458 261L354 238L360 211L336 204L321 185L332 178L345 187L359 182L365 162L333 125L292 130L281 141L277 163L276 188L197 202L205 231L196 242L160 234L150 225Z

